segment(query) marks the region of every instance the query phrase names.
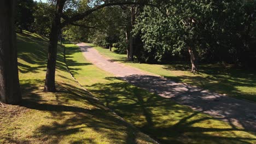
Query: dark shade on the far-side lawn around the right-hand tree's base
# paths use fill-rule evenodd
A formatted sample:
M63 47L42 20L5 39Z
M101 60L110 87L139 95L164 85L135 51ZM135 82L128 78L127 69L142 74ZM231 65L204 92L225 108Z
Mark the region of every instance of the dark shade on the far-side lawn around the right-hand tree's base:
M168 70L176 70L174 65L166 65ZM242 70L219 65L202 65L200 75L165 76L175 81L210 89L213 92L228 94L230 97L256 102L253 88L256 87L254 70ZM251 89L251 90L250 90Z

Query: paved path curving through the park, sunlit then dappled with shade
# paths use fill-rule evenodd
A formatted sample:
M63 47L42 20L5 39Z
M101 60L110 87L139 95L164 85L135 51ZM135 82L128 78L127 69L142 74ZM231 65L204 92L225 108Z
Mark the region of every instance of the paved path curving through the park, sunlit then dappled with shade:
M211 93L205 89L177 83L113 62L85 43L80 43L78 46L88 61L133 85L148 89L161 97L170 98L178 104L190 106L194 110L208 113L230 124L256 131L256 104L254 103Z

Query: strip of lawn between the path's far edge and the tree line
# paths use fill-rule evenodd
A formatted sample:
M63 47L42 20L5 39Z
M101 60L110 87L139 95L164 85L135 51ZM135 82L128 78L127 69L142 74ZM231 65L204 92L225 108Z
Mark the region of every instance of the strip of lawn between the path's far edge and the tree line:
M91 46L94 46L91 44ZM234 68L232 65L201 64L200 74L189 72L189 63L139 64L126 61L125 54L110 52L103 47L94 46L98 52L114 61L170 78L177 82L209 89L212 92L226 94L229 97L256 102L256 71Z

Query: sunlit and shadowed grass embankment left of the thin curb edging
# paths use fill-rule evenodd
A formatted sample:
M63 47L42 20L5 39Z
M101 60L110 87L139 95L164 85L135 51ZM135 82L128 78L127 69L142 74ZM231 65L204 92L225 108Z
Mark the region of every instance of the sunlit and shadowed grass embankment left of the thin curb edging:
M152 143L68 73L58 48L56 93L44 93L48 39L18 34L21 106L0 106L0 143ZM80 65L86 63L81 62Z

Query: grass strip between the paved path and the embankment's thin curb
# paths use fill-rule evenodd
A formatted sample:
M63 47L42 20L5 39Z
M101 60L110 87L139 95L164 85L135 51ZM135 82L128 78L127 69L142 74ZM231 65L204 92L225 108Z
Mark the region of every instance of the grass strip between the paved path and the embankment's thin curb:
M74 77L106 106L160 142L256 143L255 133L121 81L86 61L77 46L66 47Z

